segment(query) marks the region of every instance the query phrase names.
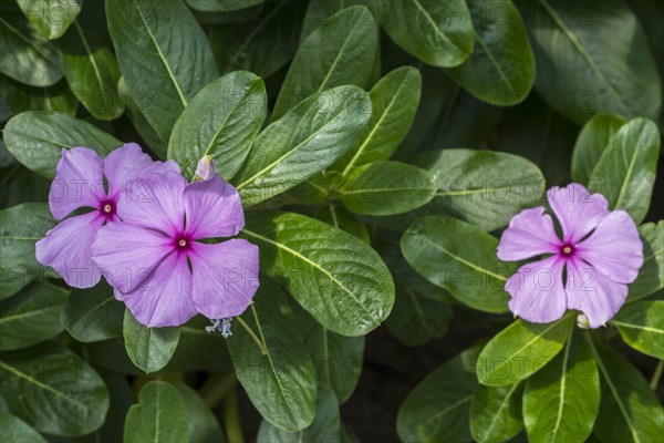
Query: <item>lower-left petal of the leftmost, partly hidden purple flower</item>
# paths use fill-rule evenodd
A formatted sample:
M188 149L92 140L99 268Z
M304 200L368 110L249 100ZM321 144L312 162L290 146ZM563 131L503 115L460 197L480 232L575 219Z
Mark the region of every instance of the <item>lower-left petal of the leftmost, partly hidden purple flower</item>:
M103 224L96 210L60 222L37 243L37 260L53 268L69 286L95 286L102 275L92 261L92 244Z

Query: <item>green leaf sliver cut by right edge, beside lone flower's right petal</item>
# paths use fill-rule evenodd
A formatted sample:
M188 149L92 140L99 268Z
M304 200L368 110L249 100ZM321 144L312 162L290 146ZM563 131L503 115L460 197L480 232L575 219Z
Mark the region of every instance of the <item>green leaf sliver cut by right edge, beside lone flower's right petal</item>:
M639 227L643 241L643 266L639 277L630 285L627 302L647 297L664 288L664 220L646 223Z

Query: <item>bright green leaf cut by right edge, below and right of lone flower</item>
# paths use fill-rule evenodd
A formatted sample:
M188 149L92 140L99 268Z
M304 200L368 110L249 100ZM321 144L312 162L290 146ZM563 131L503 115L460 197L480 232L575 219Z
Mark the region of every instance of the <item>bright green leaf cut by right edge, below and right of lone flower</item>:
M625 343L664 360L664 301L626 305L610 323L618 327Z

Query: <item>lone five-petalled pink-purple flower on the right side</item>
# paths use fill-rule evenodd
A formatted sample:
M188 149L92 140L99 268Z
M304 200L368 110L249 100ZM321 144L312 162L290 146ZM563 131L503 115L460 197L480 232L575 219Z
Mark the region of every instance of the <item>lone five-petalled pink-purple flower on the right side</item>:
M562 239L540 206L517 214L502 234L498 258L523 265L505 286L515 316L536 323L583 312L591 328L605 324L625 302L627 284L643 265L643 244L624 210L609 210L601 194L579 184L547 192Z

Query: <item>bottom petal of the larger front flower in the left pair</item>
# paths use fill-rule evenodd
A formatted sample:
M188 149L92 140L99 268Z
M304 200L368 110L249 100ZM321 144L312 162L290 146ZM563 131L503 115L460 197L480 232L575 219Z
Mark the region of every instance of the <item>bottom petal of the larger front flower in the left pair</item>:
M145 326L179 326L196 316L187 255L172 253L132 292L124 293L132 315Z

